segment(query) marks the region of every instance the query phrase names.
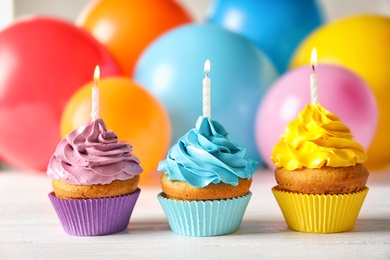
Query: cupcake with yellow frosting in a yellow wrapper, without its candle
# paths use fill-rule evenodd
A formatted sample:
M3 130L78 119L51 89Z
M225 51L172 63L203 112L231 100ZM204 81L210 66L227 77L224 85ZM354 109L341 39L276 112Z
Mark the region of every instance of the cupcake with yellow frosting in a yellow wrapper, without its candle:
M364 202L365 149L318 103L308 104L275 145L272 189L287 225L312 233L352 229Z

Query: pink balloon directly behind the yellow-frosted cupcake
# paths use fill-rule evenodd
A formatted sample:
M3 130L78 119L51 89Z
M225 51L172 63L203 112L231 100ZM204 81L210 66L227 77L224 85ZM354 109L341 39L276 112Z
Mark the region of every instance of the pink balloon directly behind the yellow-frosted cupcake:
M346 124L355 140L368 148L374 138L377 103L370 87L354 72L335 65L319 64L319 102ZM257 148L269 168L272 149L287 124L310 100L311 67L303 66L279 78L264 95L255 122Z

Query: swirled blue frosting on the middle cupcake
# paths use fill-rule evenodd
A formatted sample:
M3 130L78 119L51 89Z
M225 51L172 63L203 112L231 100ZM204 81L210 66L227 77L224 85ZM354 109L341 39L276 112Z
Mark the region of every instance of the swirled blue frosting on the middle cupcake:
M220 123L199 117L196 127L169 150L158 169L169 175L168 180L186 181L197 188L220 182L237 186L239 178L252 177L258 164L245 159L245 152Z

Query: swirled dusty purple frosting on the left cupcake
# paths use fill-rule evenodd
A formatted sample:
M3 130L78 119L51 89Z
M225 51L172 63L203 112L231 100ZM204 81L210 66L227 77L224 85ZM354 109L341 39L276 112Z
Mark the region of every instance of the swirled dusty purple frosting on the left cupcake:
M89 122L68 134L57 145L47 175L76 185L109 184L128 180L142 172L129 143L118 141L102 119Z

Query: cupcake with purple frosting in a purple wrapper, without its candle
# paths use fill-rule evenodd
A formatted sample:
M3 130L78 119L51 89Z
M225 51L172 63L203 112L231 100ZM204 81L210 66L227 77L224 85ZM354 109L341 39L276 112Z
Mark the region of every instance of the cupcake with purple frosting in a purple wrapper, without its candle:
M49 199L66 233L98 236L127 228L142 172L131 152L100 118L61 140L47 174L53 186Z

